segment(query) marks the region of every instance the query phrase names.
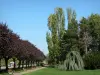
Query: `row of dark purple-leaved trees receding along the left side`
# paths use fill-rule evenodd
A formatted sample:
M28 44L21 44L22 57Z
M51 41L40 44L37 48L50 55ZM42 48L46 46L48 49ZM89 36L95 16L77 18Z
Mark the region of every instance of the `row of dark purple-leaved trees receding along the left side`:
M6 24L0 23L0 61L5 59L6 70L8 70L8 60L12 58L15 62L19 60L19 68L22 63L34 63L44 60L45 56L35 45L20 37L8 28ZM27 66L28 65L28 66ZM1 64L0 64L1 67ZM15 68L15 64L14 64Z

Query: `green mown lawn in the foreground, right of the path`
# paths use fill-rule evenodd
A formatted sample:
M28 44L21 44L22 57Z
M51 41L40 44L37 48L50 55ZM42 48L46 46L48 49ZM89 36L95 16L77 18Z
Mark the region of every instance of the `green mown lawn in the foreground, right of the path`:
M100 75L100 70L60 71L54 68L45 68L24 75Z

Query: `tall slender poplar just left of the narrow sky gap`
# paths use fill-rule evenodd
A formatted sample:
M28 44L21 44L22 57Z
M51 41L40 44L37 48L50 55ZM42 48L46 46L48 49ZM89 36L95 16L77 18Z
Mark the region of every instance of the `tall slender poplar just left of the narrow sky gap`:
M63 52L63 48L62 48L62 39L65 33L65 15L64 15L64 11L62 8L56 8L55 14L57 16L57 32L58 32L58 63L61 61L61 59L63 59L61 57L62 52Z

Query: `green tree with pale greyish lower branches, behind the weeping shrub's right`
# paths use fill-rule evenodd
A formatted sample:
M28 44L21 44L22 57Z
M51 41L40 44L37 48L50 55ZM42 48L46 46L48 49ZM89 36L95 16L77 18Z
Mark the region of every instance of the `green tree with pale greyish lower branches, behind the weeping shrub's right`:
M84 50L81 51L84 54L88 53L88 48L90 44L92 43L92 37L89 33L89 27L88 27L88 20L86 18L82 18L80 21L80 49Z

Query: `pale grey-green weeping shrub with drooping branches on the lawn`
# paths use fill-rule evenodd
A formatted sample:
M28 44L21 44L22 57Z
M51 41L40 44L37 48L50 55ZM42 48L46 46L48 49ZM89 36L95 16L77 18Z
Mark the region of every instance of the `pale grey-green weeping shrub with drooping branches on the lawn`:
M71 51L67 54L66 60L63 64L58 65L58 69L61 70L83 70L84 63L83 59L80 56L80 53L77 51Z

